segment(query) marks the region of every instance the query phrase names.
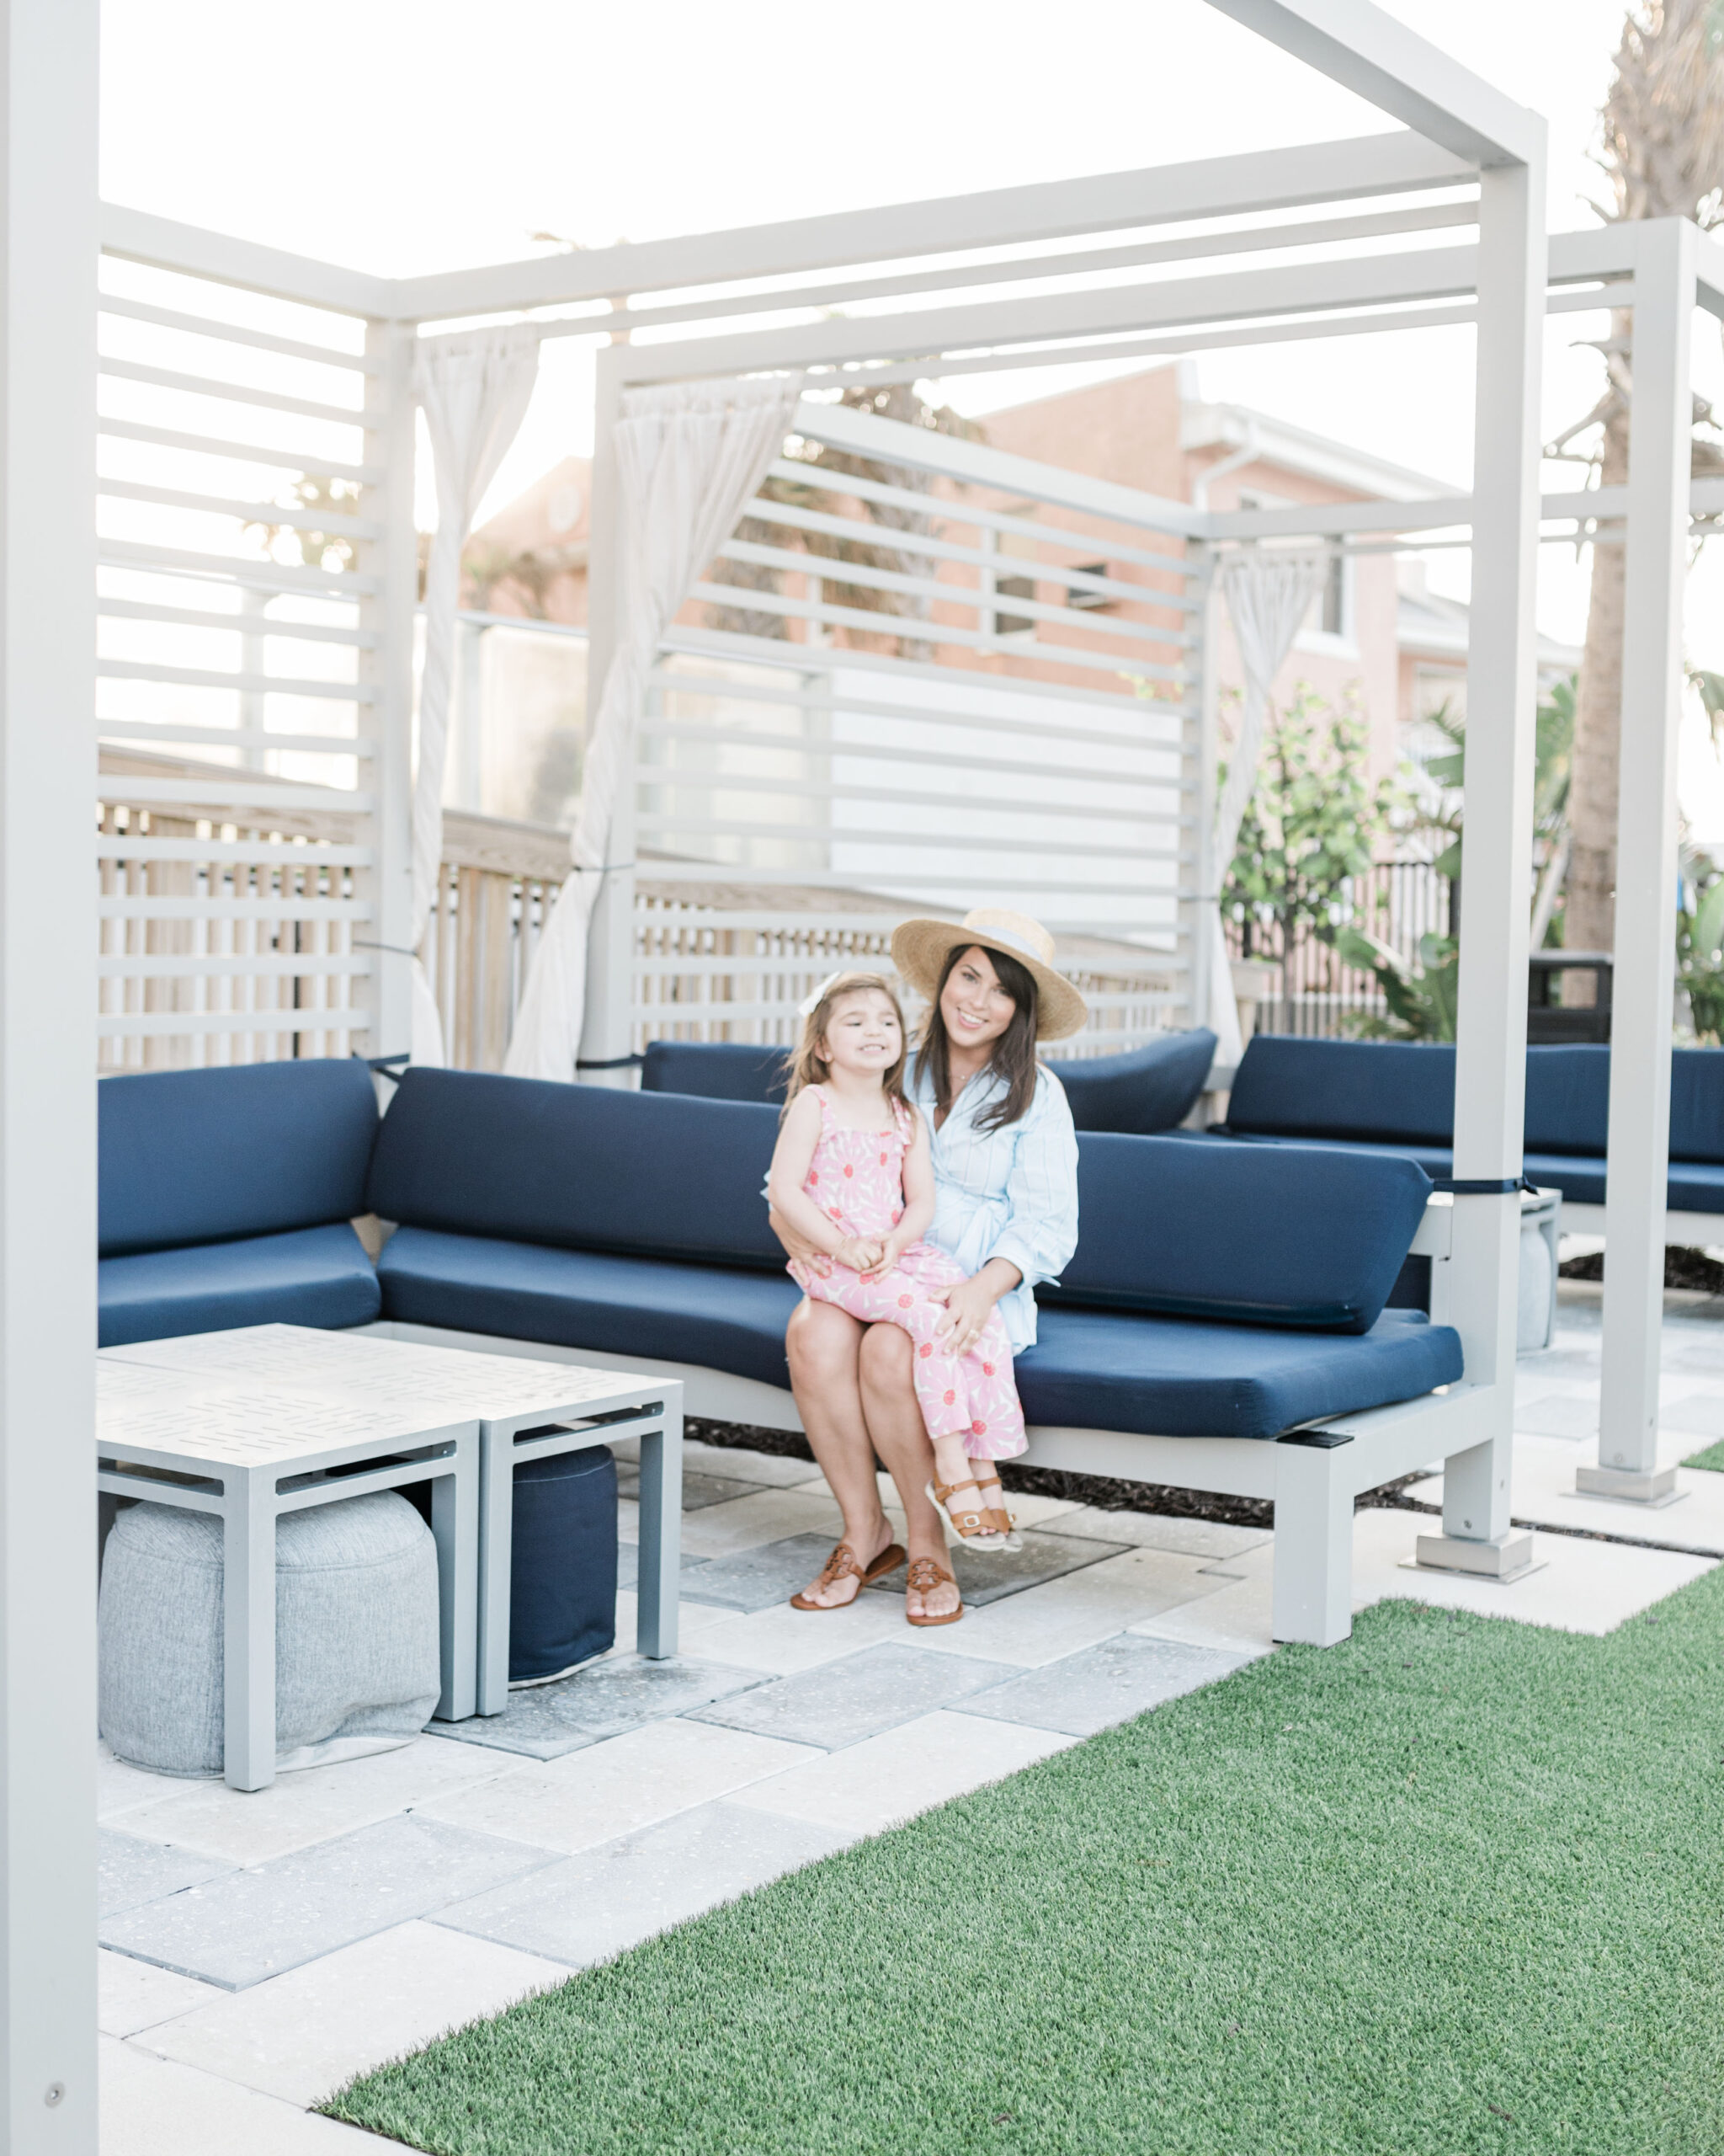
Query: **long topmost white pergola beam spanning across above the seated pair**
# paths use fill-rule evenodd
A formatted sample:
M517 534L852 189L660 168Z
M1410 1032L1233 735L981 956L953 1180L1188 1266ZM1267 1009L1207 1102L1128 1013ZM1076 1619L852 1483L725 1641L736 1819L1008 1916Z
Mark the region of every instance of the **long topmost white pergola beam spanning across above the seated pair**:
M1360 136L403 278L392 287L394 313L414 321L446 321L517 306L571 306L621 293L1455 188L1468 179L1472 168L1463 160L1416 134Z

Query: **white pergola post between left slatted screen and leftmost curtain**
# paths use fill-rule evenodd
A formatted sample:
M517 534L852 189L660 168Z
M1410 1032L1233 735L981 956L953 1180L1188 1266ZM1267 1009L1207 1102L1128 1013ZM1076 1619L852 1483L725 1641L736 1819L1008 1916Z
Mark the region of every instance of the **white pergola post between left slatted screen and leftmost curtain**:
M377 800L371 834L377 865L371 871L373 921L362 931L373 975L371 1039L366 1054L392 1056L412 1046L414 994L414 612L418 604L418 535L414 530L414 326L373 321L364 338L377 367L366 403L377 425L366 429L364 461L381 468L366 515L384 537L366 548L366 567L379 589L360 606L360 627L377 642L360 653L360 679L377 690L360 707L360 724L377 742L362 765L360 785Z

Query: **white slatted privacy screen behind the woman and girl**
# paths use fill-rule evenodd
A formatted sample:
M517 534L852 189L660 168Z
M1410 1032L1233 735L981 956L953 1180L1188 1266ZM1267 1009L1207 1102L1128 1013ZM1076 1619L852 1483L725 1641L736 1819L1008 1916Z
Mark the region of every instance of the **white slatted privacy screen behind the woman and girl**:
M1192 1024L1207 554L1125 489L1103 520L974 442L832 431L843 464L789 444L651 681L638 1039L784 1041L896 918L972 906L1056 931L1080 1052Z

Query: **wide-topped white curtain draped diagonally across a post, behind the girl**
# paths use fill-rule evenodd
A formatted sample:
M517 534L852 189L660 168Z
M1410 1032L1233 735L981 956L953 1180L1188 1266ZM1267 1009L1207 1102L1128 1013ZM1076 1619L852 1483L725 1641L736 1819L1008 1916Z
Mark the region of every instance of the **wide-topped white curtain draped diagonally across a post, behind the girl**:
M778 455L802 397L802 375L769 382L690 382L629 390L616 420L616 647L599 711L586 729L573 871L515 1013L511 1078L573 1080L586 1011L586 931L610 862L610 824L629 783L634 722L659 638L690 586L735 530Z

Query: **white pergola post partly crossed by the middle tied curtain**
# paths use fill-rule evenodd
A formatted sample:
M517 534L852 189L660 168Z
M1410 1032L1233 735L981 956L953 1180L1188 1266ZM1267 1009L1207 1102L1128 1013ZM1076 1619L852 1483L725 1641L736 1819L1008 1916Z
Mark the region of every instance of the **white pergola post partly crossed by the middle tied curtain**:
M616 509L616 444L612 429L623 410L621 358L614 345L599 354L597 390L593 399L593 517L586 571L586 729L599 716L610 660L616 651L616 550L621 543ZM610 819L606 860L634 860L636 813L636 746L623 763L616 808ZM582 1063L614 1063L634 1046L634 869L606 875L586 934L586 1013L580 1035ZM575 1074L582 1084L631 1087L634 1072L586 1069Z

